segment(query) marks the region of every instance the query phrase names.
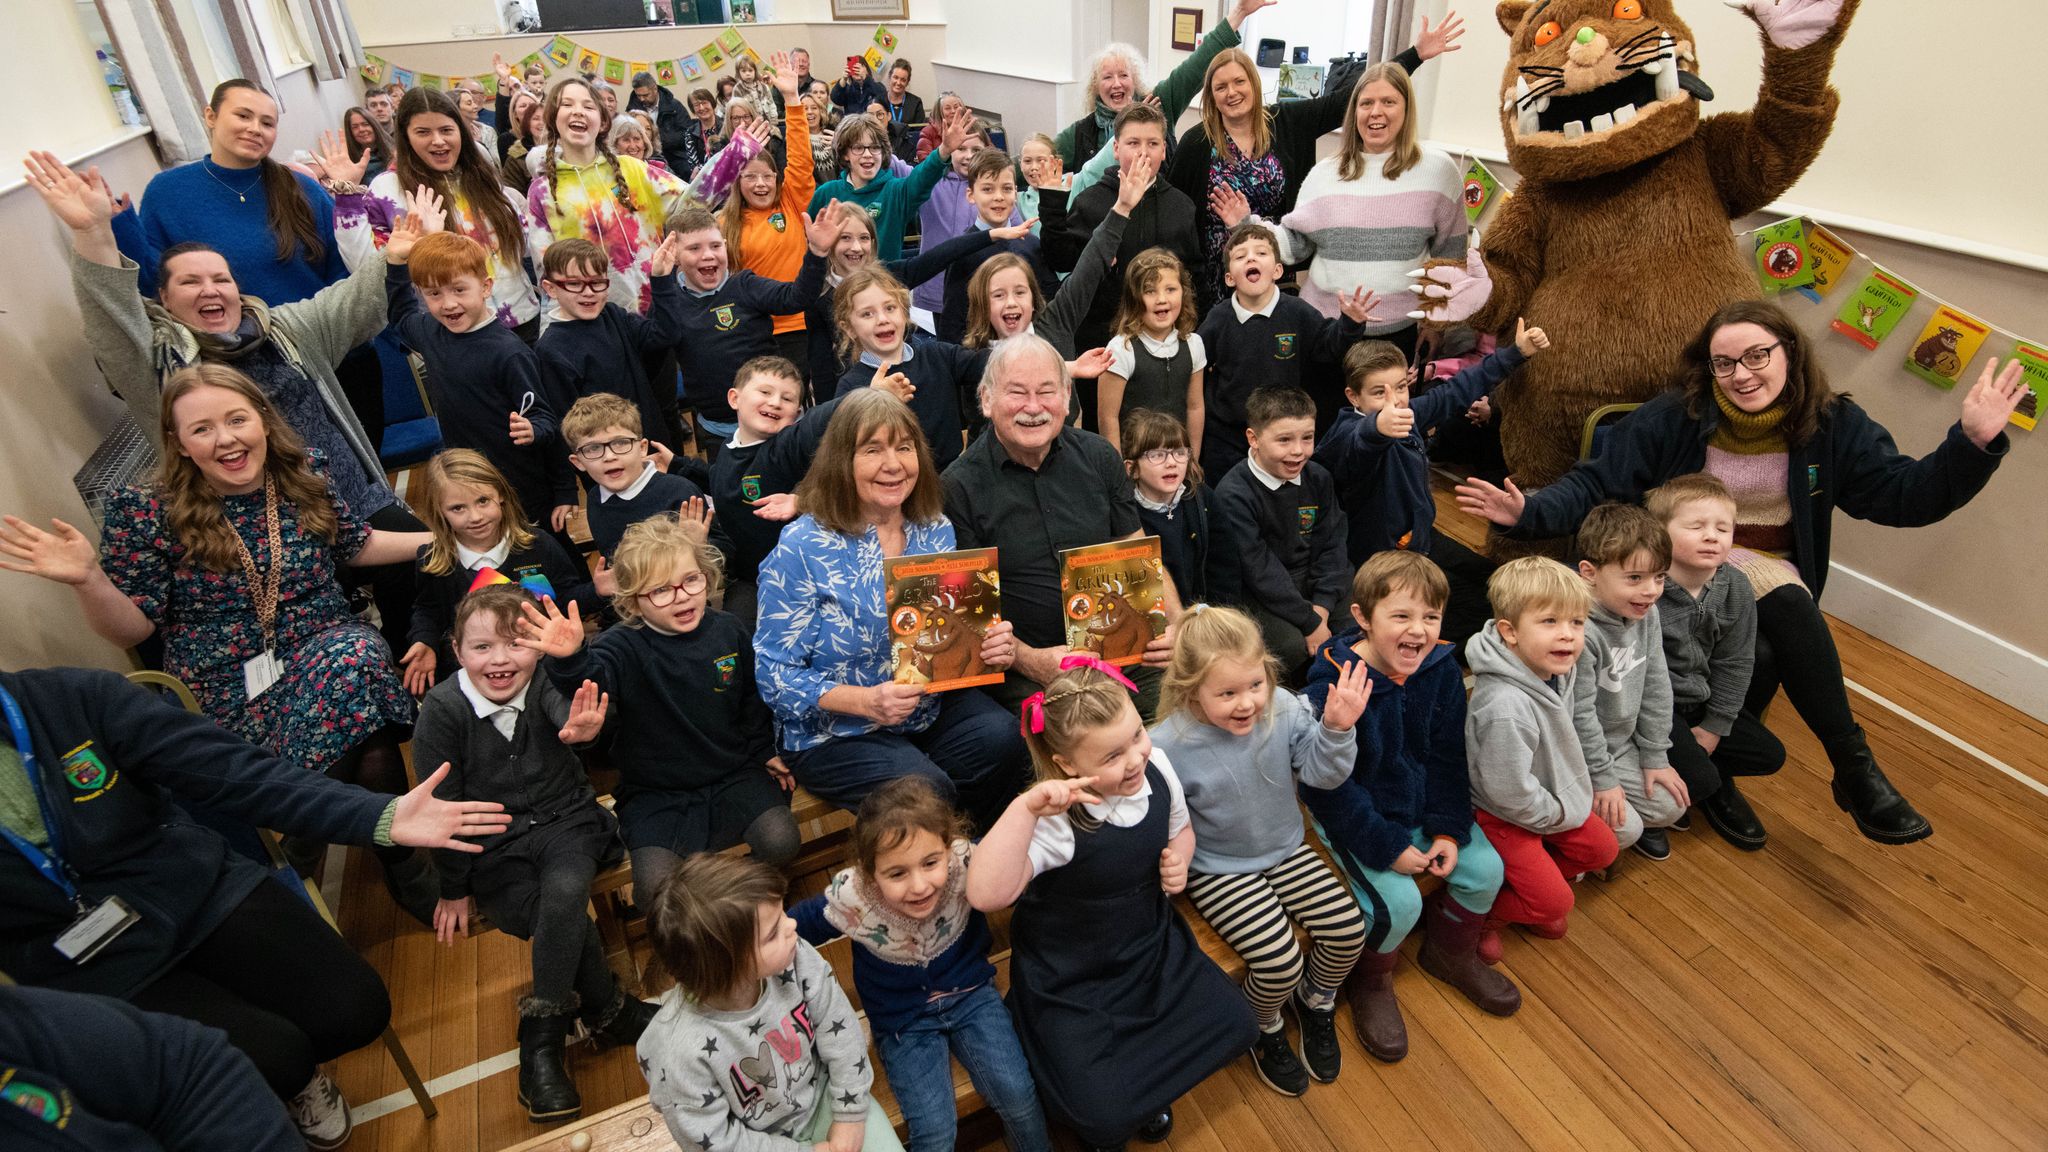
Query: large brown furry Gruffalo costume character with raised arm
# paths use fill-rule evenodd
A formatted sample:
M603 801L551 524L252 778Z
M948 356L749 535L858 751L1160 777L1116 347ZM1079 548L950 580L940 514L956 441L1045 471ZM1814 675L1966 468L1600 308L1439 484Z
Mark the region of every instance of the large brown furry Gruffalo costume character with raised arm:
M1485 234L1491 295L1470 316L1526 316L1554 348L1501 387L1501 449L1524 486L1577 459L1585 418L1655 396L1722 303L1757 295L1729 221L1772 203L1835 123L1835 47L1858 0L1745 0L1763 29L1757 107L1712 98L1673 0L1503 0L1501 131L1522 176ZM1477 260L1470 273L1479 273ZM1450 295L1464 264L1432 269ZM1458 320L1460 285L1432 320ZM1470 305L1468 305L1470 307Z

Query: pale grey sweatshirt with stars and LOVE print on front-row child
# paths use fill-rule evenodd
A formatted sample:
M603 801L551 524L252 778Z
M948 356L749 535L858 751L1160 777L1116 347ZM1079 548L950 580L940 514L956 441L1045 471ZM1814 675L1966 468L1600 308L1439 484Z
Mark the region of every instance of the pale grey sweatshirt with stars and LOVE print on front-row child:
M672 988L639 1039L647 1097L678 1148L809 1152L799 1136L868 1115L868 1037L817 949L797 941L786 970L743 1013L721 1013Z

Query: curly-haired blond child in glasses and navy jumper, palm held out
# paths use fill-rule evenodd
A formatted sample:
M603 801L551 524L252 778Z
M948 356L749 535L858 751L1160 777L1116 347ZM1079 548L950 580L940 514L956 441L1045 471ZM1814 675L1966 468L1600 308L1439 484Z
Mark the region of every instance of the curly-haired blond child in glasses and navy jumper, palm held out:
M676 517L627 529L612 558L621 623L588 646L575 605L528 609L520 644L543 652L561 685L596 681L612 699L618 832L633 888L653 892L690 853L745 842L782 865L803 838L788 812L797 787L774 750L774 719L754 689L754 642L711 607L719 553Z

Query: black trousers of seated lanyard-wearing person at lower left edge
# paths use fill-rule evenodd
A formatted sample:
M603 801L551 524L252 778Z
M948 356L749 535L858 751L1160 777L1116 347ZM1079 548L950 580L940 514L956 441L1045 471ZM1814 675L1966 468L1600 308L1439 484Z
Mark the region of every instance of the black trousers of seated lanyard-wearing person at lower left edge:
M391 1023L377 972L272 879L129 1002L225 1031L285 1101L317 1064L375 1041Z

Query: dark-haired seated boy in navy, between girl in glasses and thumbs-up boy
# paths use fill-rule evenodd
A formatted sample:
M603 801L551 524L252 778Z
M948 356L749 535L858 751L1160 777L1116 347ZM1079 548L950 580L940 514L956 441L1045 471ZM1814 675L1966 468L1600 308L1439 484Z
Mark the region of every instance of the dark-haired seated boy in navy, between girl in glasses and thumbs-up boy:
M1262 387L1245 402L1251 451L1217 484L1217 510L1245 558L1245 607L1288 681L1329 640L1352 586L1337 486L1315 451L1315 400ZM1204 461L1206 469L1206 461Z

